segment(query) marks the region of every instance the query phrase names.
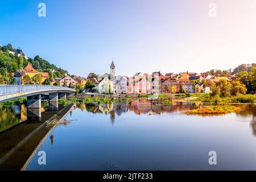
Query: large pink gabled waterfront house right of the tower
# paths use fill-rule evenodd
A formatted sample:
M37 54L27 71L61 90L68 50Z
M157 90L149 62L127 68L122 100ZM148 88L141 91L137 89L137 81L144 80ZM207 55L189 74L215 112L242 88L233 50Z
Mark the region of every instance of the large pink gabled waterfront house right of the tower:
M134 93L138 94L150 94L151 82L146 77L140 78L134 82Z

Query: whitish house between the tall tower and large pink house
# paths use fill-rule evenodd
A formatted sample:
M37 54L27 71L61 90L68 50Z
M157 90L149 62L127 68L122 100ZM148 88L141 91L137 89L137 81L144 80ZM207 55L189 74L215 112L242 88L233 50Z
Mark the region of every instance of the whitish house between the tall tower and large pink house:
M127 77L116 76L113 80L113 90L118 94L125 94L128 92Z

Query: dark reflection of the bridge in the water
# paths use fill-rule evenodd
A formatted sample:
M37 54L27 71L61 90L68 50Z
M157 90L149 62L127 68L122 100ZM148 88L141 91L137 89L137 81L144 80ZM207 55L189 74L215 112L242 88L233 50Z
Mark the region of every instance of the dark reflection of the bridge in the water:
M34 117L34 109L27 109L27 121L0 133L0 171L26 169L41 144L51 134L54 126L46 127L51 118L62 119L73 109L73 104L47 110L42 117ZM39 111L40 112L40 111ZM35 115L38 115L37 113ZM41 116L41 114L40 114ZM51 136L53 143L53 136Z

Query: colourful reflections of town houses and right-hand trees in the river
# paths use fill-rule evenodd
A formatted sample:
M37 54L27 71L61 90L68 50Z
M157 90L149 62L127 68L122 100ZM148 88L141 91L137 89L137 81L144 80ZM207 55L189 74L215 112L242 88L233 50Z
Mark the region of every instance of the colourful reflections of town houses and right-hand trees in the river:
M105 104L85 104L78 103L76 107L80 110L88 111L89 113L100 113L109 115L110 120L114 123L115 114L120 116L122 113L132 111L137 115L141 114L164 114L173 112L183 112L192 109L198 109L203 106L212 106L213 104L201 104L192 102L170 102L166 105L162 101L151 101L146 98L137 100L127 100L123 102L108 102ZM256 105L239 104L236 105L241 108L240 113L236 113L238 117L251 117L251 127L253 129L253 135L256 136ZM204 115L208 117L214 117L214 115Z

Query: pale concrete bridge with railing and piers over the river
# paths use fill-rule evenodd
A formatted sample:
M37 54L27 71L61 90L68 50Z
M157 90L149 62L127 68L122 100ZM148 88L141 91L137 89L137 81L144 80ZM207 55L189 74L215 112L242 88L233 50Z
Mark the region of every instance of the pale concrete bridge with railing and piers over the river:
M67 98L67 94L75 89L52 85L0 85L0 102L14 98L27 97L27 107L41 108L42 95L48 95L49 102L55 103L59 98Z

